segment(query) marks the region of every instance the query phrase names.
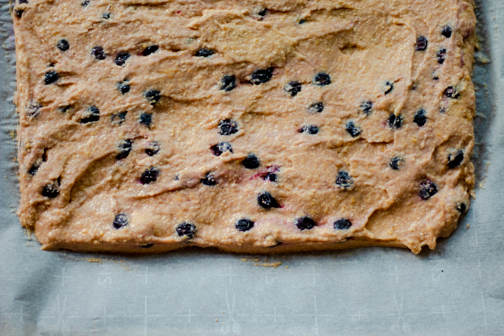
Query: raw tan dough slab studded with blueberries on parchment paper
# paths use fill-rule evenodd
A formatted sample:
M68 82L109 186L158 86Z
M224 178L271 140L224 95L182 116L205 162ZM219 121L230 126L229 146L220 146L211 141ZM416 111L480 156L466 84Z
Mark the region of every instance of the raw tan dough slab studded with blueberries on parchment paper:
M43 249L418 253L474 184L472 0L16 0Z

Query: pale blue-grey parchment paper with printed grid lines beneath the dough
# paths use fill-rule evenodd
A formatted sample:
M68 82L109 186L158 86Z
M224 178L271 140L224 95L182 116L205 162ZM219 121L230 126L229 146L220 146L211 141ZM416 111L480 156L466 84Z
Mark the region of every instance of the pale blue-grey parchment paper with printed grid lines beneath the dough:
M477 1L473 159L481 187L458 229L418 255L41 251L15 214L15 48L9 4L0 5L0 335L504 333L502 0Z

